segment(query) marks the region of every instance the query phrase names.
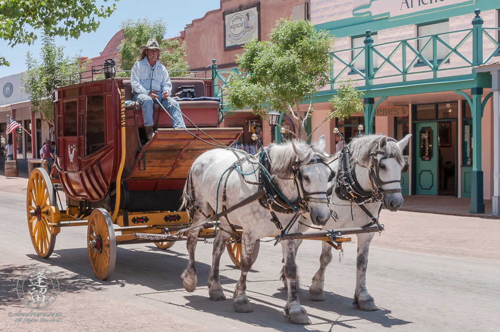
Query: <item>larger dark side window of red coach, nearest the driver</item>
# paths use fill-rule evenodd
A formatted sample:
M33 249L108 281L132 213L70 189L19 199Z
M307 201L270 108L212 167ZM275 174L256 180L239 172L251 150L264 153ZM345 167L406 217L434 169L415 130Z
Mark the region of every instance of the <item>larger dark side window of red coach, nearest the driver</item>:
M86 154L104 147L104 97L102 95L87 97L85 141Z

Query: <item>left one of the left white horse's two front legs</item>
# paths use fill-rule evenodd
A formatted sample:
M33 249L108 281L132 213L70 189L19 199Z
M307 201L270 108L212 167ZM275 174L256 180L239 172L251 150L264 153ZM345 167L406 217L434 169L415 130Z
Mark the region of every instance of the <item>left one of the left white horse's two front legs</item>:
M253 247L255 246L255 241L257 239L252 237L251 234L243 232L241 236L241 262L239 269L241 270L241 275L238 282L236 283L236 288L234 289L234 300L232 306L236 312L252 312L253 307L248 301L246 296L246 274L250 270L252 264Z

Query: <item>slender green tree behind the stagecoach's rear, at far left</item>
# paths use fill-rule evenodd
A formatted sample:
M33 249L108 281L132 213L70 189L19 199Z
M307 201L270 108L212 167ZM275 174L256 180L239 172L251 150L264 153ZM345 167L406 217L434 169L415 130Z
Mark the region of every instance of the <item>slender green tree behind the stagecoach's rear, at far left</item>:
M30 52L26 53L26 73L22 85L31 100L31 110L41 112L52 123L54 118L52 102L52 79L80 71L79 55L64 55L64 46L55 46L52 36L44 35L40 50L40 61ZM52 123L53 124L53 123Z

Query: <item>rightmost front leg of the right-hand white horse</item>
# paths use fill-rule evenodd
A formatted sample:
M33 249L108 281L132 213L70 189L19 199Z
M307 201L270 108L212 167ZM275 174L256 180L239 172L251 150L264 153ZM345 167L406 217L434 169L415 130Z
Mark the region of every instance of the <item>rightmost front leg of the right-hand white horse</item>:
M357 234L357 259L356 259L356 289L352 304L361 310L378 310L373 298L366 290L366 267L368 265L368 249L374 233Z

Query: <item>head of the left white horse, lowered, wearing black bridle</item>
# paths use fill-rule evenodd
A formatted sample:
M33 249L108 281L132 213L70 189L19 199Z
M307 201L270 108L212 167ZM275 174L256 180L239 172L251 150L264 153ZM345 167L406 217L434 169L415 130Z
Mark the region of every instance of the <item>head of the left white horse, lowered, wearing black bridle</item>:
M330 168L324 162L325 147L322 135L312 145L292 140L268 149L274 182L302 212L310 212L316 225L324 225L330 217L326 197Z

